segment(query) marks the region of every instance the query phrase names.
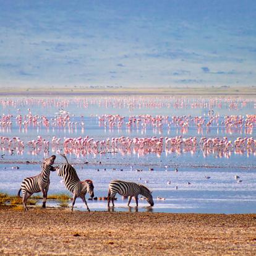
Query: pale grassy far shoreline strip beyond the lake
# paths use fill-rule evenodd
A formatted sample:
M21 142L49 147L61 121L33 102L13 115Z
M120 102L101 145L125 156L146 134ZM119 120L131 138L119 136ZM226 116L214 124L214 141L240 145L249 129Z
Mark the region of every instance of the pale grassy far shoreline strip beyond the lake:
M163 87L163 88L101 88L49 87L0 88L0 96L256 96L256 87Z

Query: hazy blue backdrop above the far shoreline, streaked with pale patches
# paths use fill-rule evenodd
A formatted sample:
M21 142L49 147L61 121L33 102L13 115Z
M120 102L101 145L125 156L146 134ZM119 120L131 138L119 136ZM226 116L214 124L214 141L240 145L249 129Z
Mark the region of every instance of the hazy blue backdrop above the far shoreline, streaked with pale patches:
M255 0L0 0L0 86L256 85Z

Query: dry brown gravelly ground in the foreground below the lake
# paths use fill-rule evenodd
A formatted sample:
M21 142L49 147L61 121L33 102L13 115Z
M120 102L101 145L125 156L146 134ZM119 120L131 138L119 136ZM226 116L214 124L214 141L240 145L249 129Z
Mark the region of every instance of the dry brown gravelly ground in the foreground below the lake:
M256 255L256 214L0 207L0 255Z

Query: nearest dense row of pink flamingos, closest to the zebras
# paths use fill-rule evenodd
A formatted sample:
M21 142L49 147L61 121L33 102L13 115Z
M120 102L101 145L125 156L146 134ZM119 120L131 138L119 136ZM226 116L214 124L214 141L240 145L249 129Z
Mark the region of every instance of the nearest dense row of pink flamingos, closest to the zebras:
M252 137L238 137L236 140L228 140L223 138L207 138L197 137L182 138L181 135L176 137L114 137L106 140L95 140L88 136L74 138L58 138L53 137L51 140L43 139L40 135L35 140L24 142L19 137L0 137L0 150L14 151L23 154L25 146L28 147L32 155L38 155L41 151L60 153L64 150L66 154L75 154L78 157L88 154L105 154L105 153L121 153L122 155L137 153L139 156L148 153L156 153L160 156L163 151L166 153L195 153L201 150L204 156L215 153L218 156L230 156L231 152L244 153L251 152L256 155L256 140Z

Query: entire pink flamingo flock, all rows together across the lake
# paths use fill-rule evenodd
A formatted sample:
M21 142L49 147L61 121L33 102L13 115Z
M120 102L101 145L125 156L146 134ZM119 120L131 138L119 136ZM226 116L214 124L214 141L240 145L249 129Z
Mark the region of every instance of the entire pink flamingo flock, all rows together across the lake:
M250 152L256 155L256 140L249 135L253 134L253 129L256 124L255 114L242 115L226 115L221 117L220 114L214 113L213 110L207 112L203 116L167 116L151 114L138 114L129 117L121 114L90 114L91 120L95 118L98 126L102 129L126 129L140 130L141 134L146 134L147 129L158 130L161 135L162 130L166 129L168 135L172 129L180 129L182 135L186 134L189 129L197 130L197 136L182 137L182 135L169 136L150 136L150 137L129 137L118 136L108 137L106 139L94 139L87 136L79 137L57 137L49 136L43 138L38 135L32 140L22 140L19 137L7 137L7 132L12 129L12 126L19 127L20 130L25 129L53 129L54 134L58 134L61 129L81 129L82 132L87 127L88 119L83 115L75 118L75 114L70 114L64 108L70 105L76 105L79 108L89 108L92 105L103 106L106 108L203 108L215 109L222 108L223 105L229 109L245 108L248 104L253 104L256 108L256 103L252 100L220 100L220 99L176 99L171 97L163 97L162 100L153 100L152 98L90 98L86 99L16 99L16 100L0 100L0 105L3 109L15 108L15 114L2 114L0 116L0 132L4 135L0 136L0 150L9 151L10 153L17 152L23 154L25 148L33 155L37 155L41 151L60 153L61 150L66 154L88 155L88 154L105 154L105 153L121 153L130 154L136 153L139 156L148 153L156 153L160 156L161 153L182 153L202 151L203 156L215 154L217 156L229 157L231 152L244 153ZM32 114L30 108L27 109L27 114L22 114L20 108L26 106L40 106L42 108L54 107L59 108L58 113L52 117L45 114ZM20 108L18 108L20 107ZM210 129L224 129L226 134L236 132L241 137L233 140L228 140L227 137L207 137L203 135L203 131L207 134ZM19 131L20 131L19 130ZM244 134L244 137L242 136Z

